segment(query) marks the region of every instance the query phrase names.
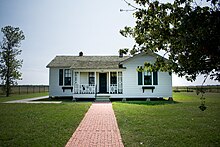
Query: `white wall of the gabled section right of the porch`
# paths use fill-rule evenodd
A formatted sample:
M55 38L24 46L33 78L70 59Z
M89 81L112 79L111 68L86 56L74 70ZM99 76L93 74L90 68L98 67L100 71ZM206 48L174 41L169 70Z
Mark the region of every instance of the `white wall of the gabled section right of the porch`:
M138 55L123 64L126 70L123 72L123 97L172 97L172 76L168 72L158 72L158 85L152 93L151 89L142 90L143 85L138 85L137 67L143 66L144 62L155 61L153 56ZM149 85L150 86L150 85Z

